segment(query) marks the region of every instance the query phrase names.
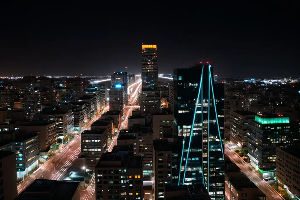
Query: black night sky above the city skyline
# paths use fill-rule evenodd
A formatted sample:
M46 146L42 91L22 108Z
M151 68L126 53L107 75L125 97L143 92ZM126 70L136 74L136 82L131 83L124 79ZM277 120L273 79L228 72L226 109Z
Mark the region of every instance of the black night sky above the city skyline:
M159 73L209 61L219 77L300 77L295 4L172 4L1 4L0 76L141 73L144 43Z

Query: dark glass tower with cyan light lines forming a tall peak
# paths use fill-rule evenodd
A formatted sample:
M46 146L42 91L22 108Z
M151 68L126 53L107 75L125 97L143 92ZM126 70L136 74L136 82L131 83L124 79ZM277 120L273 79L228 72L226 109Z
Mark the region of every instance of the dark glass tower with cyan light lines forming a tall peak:
M224 84L214 83L211 64L174 69L174 123L182 147L178 185L204 184L212 199L223 199Z

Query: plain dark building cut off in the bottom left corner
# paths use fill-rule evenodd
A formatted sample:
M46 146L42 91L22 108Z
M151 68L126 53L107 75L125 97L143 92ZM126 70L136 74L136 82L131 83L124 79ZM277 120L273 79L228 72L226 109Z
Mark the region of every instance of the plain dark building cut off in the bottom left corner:
M18 196L16 154L0 151L0 199L14 200Z

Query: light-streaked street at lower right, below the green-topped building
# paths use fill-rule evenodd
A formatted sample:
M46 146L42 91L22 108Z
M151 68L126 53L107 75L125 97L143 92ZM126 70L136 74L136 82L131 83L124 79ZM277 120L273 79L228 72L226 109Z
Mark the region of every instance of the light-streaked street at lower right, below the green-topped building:
M256 172L250 163L244 163L243 159L225 145L225 154L230 160L235 163L242 172L267 196L267 200L284 200L276 190L274 190L269 184L267 184ZM244 163L244 164L243 164Z

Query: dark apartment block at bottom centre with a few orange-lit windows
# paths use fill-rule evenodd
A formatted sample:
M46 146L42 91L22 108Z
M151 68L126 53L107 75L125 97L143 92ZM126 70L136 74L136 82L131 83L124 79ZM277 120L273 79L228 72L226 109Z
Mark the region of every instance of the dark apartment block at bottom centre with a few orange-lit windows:
M144 198L142 156L106 152L95 172L97 200Z

